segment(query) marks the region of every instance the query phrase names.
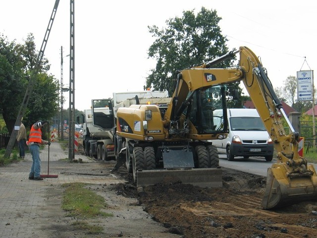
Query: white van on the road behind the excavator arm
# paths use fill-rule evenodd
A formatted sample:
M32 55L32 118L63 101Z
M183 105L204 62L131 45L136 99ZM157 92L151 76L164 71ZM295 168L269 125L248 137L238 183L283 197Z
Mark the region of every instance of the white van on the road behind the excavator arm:
M213 111L214 118L222 117L222 110ZM273 159L273 142L267 133L256 109L227 109L228 136L222 140L212 140L218 153L225 153L227 160L235 156ZM221 120L218 121L221 123Z

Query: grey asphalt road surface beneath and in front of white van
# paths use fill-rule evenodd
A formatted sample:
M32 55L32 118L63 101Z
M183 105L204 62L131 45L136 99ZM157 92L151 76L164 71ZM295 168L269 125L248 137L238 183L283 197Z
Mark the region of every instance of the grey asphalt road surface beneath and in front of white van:
M219 165L221 167L239 170L255 175L261 175L264 177L266 177L267 168L271 167L274 163L276 163L276 159L267 162L265 161L264 157L250 157L249 159L235 157L234 161L228 161L225 154L219 154ZM317 170L317 164L313 165L315 170Z

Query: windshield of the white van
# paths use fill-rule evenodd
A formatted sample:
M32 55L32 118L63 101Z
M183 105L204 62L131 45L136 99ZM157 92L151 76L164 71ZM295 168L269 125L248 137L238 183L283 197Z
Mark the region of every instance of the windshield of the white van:
M231 130L266 130L261 118L238 117L230 118Z

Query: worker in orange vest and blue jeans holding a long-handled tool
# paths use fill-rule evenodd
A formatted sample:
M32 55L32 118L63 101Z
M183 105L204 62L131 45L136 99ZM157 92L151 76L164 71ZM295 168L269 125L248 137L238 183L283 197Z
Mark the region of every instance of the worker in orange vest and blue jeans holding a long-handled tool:
M29 146L30 153L32 154L32 167L29 174L29 179L43 180L41 178L41 159L40 159L40 145L51 145L50 141L42 140L41 128L49 121L38 120L35 122L30 130L29 140L26 144Z

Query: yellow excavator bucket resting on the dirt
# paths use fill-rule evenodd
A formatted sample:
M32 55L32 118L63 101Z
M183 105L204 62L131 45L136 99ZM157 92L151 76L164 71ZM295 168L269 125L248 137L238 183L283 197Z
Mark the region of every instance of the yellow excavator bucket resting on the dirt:
M313 165L307 172L288 173L285 165L273 164L267 169L263 209L279 208L294 203L317 200L317 175Z

